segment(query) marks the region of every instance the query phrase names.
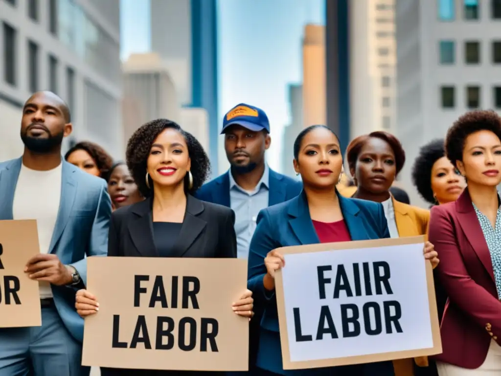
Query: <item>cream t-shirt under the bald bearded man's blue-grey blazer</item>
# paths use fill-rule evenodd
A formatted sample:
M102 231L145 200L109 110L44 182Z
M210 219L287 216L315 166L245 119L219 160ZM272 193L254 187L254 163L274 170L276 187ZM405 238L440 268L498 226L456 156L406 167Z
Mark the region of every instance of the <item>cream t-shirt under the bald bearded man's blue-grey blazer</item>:
M37 171L21 165L14 195L15 220L37 220L40 253L49 253L52 233L61 201L62 163L49 171ZM28 260L27 260L28 261ZM49 282L40 282L40 298L51 298Z

